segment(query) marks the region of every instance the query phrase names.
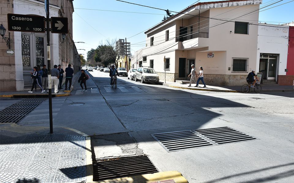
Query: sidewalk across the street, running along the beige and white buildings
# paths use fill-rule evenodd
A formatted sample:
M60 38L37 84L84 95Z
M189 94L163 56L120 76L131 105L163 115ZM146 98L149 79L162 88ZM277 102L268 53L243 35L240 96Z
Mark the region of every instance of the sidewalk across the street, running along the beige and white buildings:
M181 88L181 89L188 89L188 90L199 90L199 91L216 91L216 92L242 92L242 86L215 86L215 85L207 85L203 88L203 84L199 84L198 87L195 87L196 84L192 84L191 87L189 86L190 81L183 81L183 83L178 82L163 82L164 86L172 87L172 88ZM261 85L262 91L294 91L293 86L280 86L280 85Z

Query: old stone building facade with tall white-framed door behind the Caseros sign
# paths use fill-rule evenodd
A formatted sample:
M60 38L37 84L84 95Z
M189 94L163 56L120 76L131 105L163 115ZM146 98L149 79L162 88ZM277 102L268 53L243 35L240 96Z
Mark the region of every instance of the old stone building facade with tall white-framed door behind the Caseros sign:
M7 53L4 40L0 42L0 91L23 91L32 86L30 71L34 66L47 64L46 33L8 31L7 13L45 16L44 1L36 0L1 0L1 21L6 27L6 35L10 32L13 54ZM66 7L66 8L63 8ZM67 17L68 34L61 44L60 34L50 33L51 68L62 65L65 69L70 63L74 72L80 67L80 57L73 41L71 1L51 0L49 6L50 17ZM7 37L7 36L6 36Z

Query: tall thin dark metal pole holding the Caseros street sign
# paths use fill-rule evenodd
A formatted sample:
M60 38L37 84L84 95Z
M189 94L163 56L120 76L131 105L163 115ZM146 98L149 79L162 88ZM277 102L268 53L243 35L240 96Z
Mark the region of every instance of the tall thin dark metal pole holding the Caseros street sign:
M46 10L46 23L47 23L47 61L48 61L49 119L50 119L50 133L53 133L49 0L45 1L45 10Z

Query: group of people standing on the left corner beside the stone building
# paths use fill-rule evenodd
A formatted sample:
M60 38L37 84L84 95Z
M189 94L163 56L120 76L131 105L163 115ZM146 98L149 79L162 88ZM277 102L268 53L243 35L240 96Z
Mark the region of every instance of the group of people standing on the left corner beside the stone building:
M69 89L71 88L71 82L74 75L74 70L71 68L71 64L68 64L68 67L65 69L66 72L66 79L65 79L65 89L67 90L67 83L69 84ZM43 65L43 69L40 69L40 66L36 66L33 68L33 71L30 72L32 75L33 84L32 89L28 91L29 93L37 91L37 85L41 88L41 92L44 93L45 90L48 88L48 70L46 69L46 65ZM54 68L51 69L51 85L54 85L54 93L58 93L59 89L62 88L62 81L63 81L63 73L64 70L61 68L61 65L54 65ZM43 84L43 87L42 87Z

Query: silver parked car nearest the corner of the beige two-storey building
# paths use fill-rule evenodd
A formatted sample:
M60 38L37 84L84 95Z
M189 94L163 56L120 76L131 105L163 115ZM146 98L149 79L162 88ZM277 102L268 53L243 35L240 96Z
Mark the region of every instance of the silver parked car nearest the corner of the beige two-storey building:
M136 70L135 81L159 83L159 76L151 67L139 67Z

